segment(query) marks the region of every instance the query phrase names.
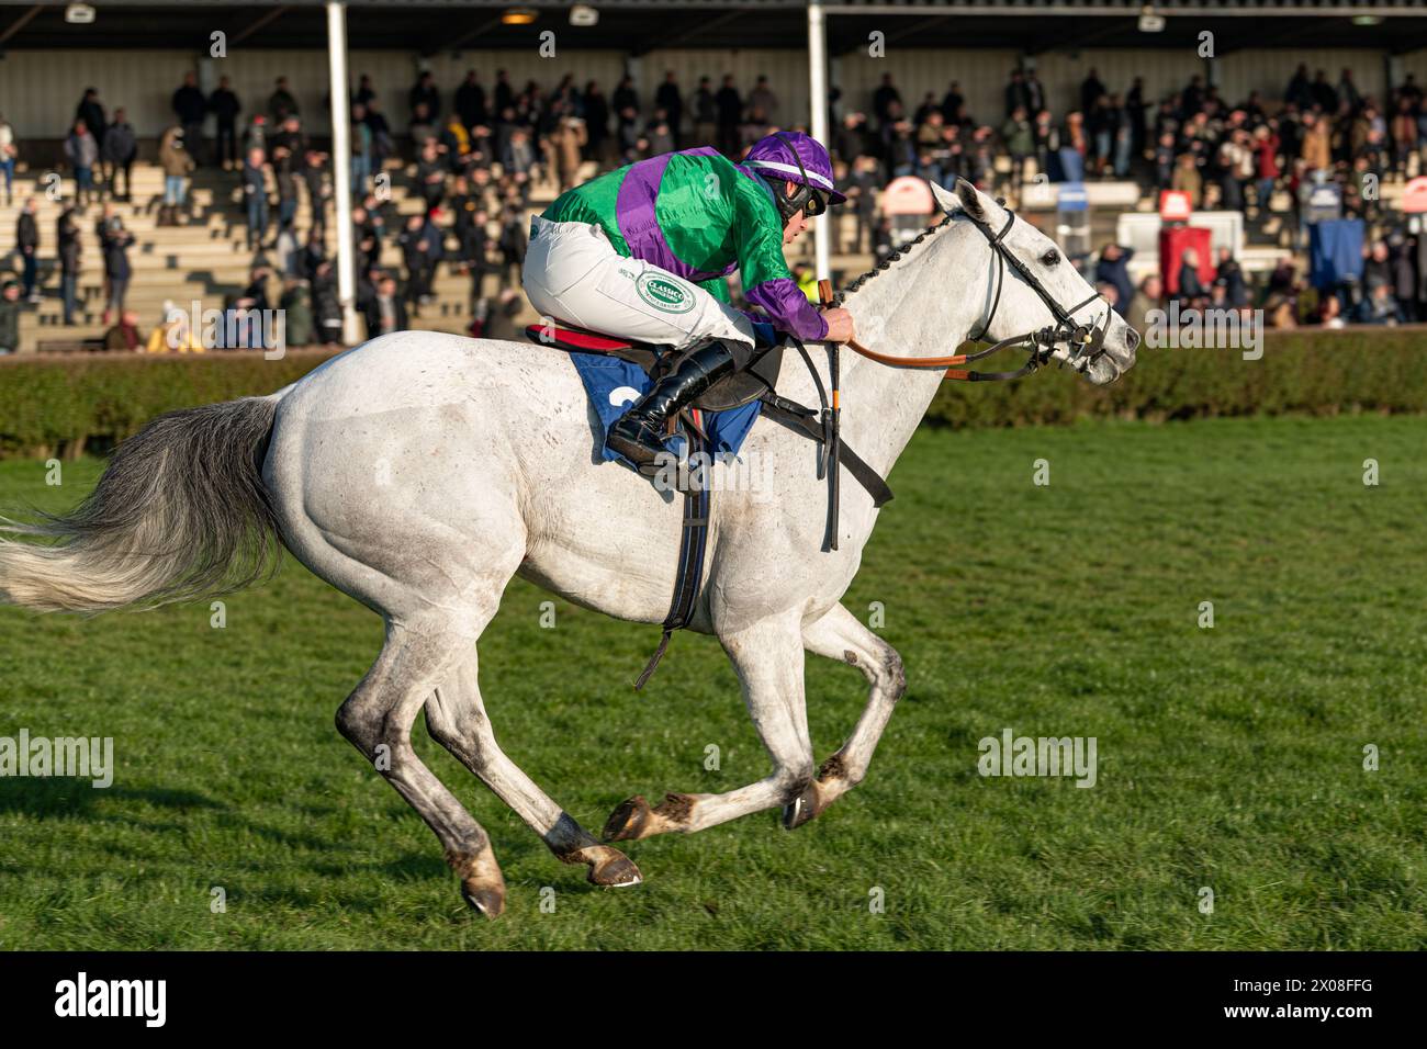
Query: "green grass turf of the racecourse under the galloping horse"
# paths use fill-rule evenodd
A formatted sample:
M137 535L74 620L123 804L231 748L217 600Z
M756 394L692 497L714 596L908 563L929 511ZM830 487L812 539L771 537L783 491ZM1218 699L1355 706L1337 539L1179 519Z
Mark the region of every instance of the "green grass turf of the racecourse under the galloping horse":
M0 948L1421 949L1424 452L1413 417L919 434L846 601L885 607L908 695L866 782L808 826L635 842L646 883L595 889L418 722L495 842L494 923L332 728L380 622L300 567L228 597L223 629L205 604L0 609L0 735L113 736L117 758L110 789L0 779ZM0 505L67 505L97 470L53 488L0 462ZM564 602L542 629L544 599L511 587L482 691L586 826L766 774L715 641L678 637L635 694L658 631ZM865 686L811 659L808 695L822 759ZM1096 785L979 776L1005 728L1095 736Z

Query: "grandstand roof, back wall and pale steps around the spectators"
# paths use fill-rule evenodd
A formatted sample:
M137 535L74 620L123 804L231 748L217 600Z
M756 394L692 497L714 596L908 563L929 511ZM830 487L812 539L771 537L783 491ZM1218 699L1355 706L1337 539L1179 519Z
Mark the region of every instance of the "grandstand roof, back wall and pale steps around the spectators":
M479 69L488 87L494 70L505 69L517 90L535 81L542 96L562 77L572 77L577 84L595 81L606 91L621 77L629 77L642 114L652 110L665 69L679 71L686 96L701 74L715 81L731 74L743 91L756 77L766 76L781 100L779 123L809 126L808 4L796 0L698 4L708 11L699 26L688 21L691 4L676 0L665 4L612 0L592 7L598 13L596 24L575 29L568 6L522 7L519 10L534 14L535 21L521 23L507 17L515 9L498 3L354 4L347 11L350 81L355 87L360 74L372 77L398 138L405 133L407 91L418 70L432 74L448 104L467 69ZM1284 84L1299 63L1326 69L1333 77L1341 69L1351 69L1363 96L1380 103L1391 98L1407 77L1427 81L1427 19L1417 17L1421 7L1416 4L1319 0L1247 4L1204 0L1196 4L1176 0L1154 6L1164 26L1153 33L1143 29L1142 7L1112 0L1095 4L1033 0L821 4L826 14L833 130L845 113L872 113L873 93L888 76L900 87L908 110L926 96L942 97L949 83L956 84L955 90L965 97L976 123L987 127L1003 120L1006 78L1016 67L1039 73L1057 123L1076 107L1082 81L1095 70L1116 93L1123 93L1140 77L1152 104L1200 76L1210 87L1217 87L1226 104L1259 93L1270 111L1281 106ZM1032 10L1047 17L1012 17ZM1260 17L1241 17L1247 10ZM1072 14L1077 17L1069 17ZM63 204L51 200L41 184L49 173L60 171L66 196L73 193L70 173L60 163L61 141L73 118L73 103L86 86L96 86L108 106L124 106L140 138L131 201L120 203L117 210L137 238L128 254L133 280L127 305L138 314L144 331L158 321L166 303L187 308L197 300L205 308L220 307L248 285L254 263L245 247L244 204L235 173L200 167L193 176L187 221L181 225L157 221L164 177L150 158L156 154L157 138L174 123L168 100L186 71L197 70L205 90L218 76L230 76L248 111L261 108L277 76L288 77L301 100L304 133L314 146L330 148L327 57L321 50L325 20L320 4L260 6L235 13L205 3L183 7L114 3L101 4L93 24L71 23L63 16L63 4L0 4L0 40L6 49L0 61L0 110L21 146L13 201L0 207L0 250L13 247L23 201L29 196L40 201L43 301L26 307L21 314L21 353L91 348L106 331L101 253L94 228L97 207L91 206L80 218L78 323L66 325L59 300L54 234ZM221 60L205 57L203 50L215 27L225 33L228 44ZM538 33L545 29L555 31L559 41L559 51L548 59L541 57L537 46ZM1204 31L1219 41L1213 59L1204 59L1197 50ZM875 34L880 34L885 49L876 57L868 53L868 40ZM83 54L84 61L68 60L76 54ZM695 144L692 133L686 117L679 144ZM211 118L207 134L211 147ZM418 214L425 207L417 193L417 167L410 156L407 151L405 160L388 158L384 166L391 176L390 218L398 223L400 217ZM609 157L591 158L586 151L578 177L589 177L609 163ZM890 164L885 164L883 181L895 174L888 168ZM499 158L491 170L499 176ZM1384 174L1384 213L1396 213L1407 176L1420 170L1414 157L1403 170ZM913 174L925 177L920 167ZM1025 174L1027 181L1023 184L1013 178L1012 160L1000 150L990 158L982 181L1009 196L1032 221L1057 235L1065 234L1066 216L1057 208L1056 186L1036 181L1035 163ZM557 194L549 164L538 168L537 176L524 201L527 216ZM1127 177L1087 178L1085 186L1089 208L1083 228L1077 230L1089 245L1085 254L1093 255L1099 245L1117 241L1136 248L1129 267L1136 280L1154 271L1159 267L1160 187L1146 157L1134 158ZM295 228L305 235L313 223L305 191L298 194L298 201ZM1304 265L1294 210L1287 177L1276 187L1269 208L1246 207L1241 213L1230 213L1219 207L1212 190L1206 191L1199 208L1200 221L1216 230L1216 247L1230 245L1243 271L1260 281L1286 255L1299 255L1300 270ZM448 243L451 218L450 208L435 217L435 224L448 231ZM334 216L328 214L327 220L325 248L327 255L334 257L338 250ZM843 227L831 238L835 245L853 240L858 220L850 210L845 208L832 221ZM494 217L489 225L494 243L498 235ZM1386 227L1370 230L1371 234L1381 231ZM838 280L868 267L873 261L868 247L875 243L876 238L869 237L862 251L842 254L835 248L825 261L818 261ZM798 251L801 258L815 261L809 244L801 244ZM267 257L271 260L271 253ZM479 297L494 298L508 277L494 248L487 261L491 273L482 280ZM392 273L402 273L404 260L392 238L384 244L381 263ZM1093 257L1086 263L1093 264ZM6 268L19 270L13 258ZM411 317L411 327L465 331L475 300L471 278L442 263L435 270L431 291L434 301L420 307L420 315ZM268 288L270 301L275 303L278 293L274 280ZM528 310L525 315L531 315Z

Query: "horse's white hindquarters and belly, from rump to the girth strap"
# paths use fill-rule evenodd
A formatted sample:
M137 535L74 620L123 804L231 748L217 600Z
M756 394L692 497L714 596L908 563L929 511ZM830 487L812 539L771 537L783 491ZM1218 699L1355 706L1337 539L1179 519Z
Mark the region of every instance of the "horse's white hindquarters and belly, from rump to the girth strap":
M283 398L264 481L294 555L388 619L459 608L517 568L598 611L662 619L681 507L595 465L592 445L564 354L400 333Z

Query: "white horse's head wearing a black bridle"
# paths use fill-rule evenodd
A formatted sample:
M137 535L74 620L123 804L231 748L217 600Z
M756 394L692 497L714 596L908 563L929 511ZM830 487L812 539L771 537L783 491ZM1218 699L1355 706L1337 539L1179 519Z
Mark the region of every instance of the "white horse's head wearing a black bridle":
M1053 240L1023 218L1012 218L1005 207L965 178L956 180L955 193L932 183L932 193L948 216L975 220L987 234L983 244L992 280L980 320L985 331L977 331L979 337L995 343L1046 327L1063 328L1066 318L1056 315L1059 308L1076 325L1087 325L1093 340L1090 348L1103 353L1076 354L1075 347L1062 341L1050 354L1053 360L1072 364L1096 385L1113 382L1134 365L1139 333L1109 303L1096 297L1095 288ZM1005 245L1009 265L1002 264L992 238ZM1045 295L1036 290L1036 283Z

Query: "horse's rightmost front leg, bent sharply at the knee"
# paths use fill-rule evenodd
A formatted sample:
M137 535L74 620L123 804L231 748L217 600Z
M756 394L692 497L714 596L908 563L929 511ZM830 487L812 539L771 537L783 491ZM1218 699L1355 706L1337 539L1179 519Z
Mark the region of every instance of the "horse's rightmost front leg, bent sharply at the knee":
M822 764L818 779L783 809L783 825L789 829L802 826L862 782L872 764L872 752L892 716L892 708L906 691L902 657L842 605L833 605L826 615L805 627L802 635L809 652L860 669L872 685L872 692L858 726L842 749Z

